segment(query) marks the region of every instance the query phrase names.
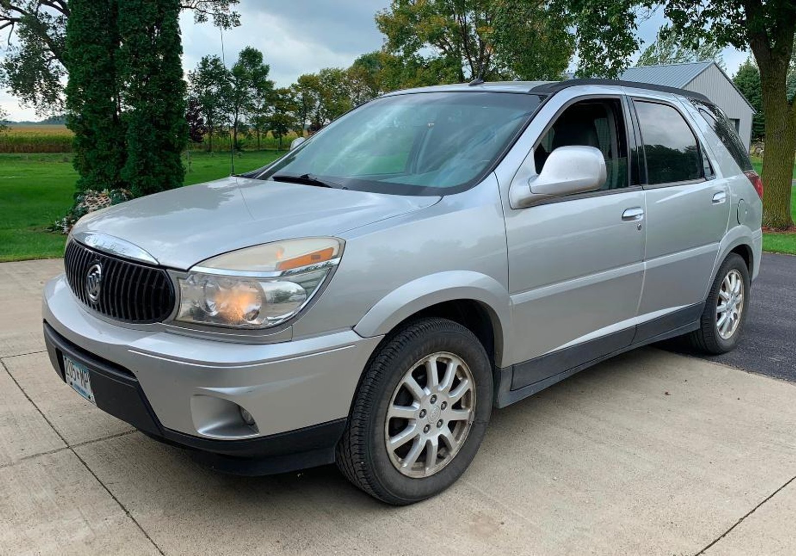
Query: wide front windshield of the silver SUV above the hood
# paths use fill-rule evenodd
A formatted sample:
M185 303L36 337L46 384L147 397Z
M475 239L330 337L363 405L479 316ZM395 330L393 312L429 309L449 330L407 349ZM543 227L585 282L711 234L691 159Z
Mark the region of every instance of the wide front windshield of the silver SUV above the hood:
M540 100L500 92L380 98L249 175L391 194L455 193L490 170Z

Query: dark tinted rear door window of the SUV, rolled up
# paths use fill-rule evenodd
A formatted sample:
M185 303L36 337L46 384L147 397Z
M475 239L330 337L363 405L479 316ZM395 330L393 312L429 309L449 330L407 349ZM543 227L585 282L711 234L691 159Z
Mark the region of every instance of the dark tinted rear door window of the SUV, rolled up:
M642 131L647 182L671 183L702 177L702 157L696 137L675 108L635 101Z

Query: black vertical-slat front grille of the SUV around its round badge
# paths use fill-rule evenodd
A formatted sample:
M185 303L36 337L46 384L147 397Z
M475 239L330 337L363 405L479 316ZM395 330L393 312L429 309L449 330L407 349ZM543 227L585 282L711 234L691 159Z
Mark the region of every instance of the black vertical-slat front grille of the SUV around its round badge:
M96 301L89 297L89 280L95 264L101 267ZM174 286L162 268L135 263L89 249L69 241L64 253L64 268L69 287L87 307L111 319L127 323L157 323L174 309Z

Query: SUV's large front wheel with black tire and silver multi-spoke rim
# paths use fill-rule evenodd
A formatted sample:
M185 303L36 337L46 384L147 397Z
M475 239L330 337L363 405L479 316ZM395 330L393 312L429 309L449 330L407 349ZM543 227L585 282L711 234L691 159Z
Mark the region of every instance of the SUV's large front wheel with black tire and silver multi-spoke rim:
M435 362L423 363L432 354ZM439 386L429 384L431 368ZM451 374L454 378L447 384ZM409 376L416 378L420 390L406 386ZM445 400L454 400L464 390L448 406ZM401 506L430 498L454 484L470 465L486 432L492 403L492 366L472 332L447 319L408 323L384 340L365 369L338 443L338 468L354 485L385 503ZM410 408L410 404L415 405ZM388 418L388 409L392 415L392 408L400 409L397 405L415 412L413 417ZM466 420L461 418L465 413ZM412 439L389 449L385 439L404 433ZM434 435L441 435L439 448L431 452L433 445L428 443ZM423 445L423 452L417 452L419 457L409 465L416 442ZM429 453L435 456L429 458Z

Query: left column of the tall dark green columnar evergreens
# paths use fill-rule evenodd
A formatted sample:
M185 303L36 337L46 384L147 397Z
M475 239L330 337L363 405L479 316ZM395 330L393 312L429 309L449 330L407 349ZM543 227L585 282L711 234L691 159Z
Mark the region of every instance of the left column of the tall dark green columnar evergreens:
M67 25L67 127L74 131L79 190L123 186L124 123L115 53L117 0L71 0Z

